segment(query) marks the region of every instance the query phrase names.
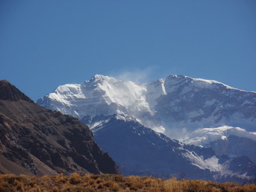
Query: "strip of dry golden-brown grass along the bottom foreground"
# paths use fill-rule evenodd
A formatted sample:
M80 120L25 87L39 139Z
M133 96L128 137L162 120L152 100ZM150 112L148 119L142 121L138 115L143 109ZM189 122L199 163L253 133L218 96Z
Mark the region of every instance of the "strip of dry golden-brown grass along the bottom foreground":
M0 191L256 191L256 185L154 177L84 175L31 177L0 175Z

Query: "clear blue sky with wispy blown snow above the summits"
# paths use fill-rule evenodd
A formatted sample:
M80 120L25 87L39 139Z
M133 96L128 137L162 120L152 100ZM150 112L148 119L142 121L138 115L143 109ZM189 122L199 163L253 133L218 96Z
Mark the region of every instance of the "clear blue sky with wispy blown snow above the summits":
M94 74L256 91L256 1L0 0L0 65L33 100Z

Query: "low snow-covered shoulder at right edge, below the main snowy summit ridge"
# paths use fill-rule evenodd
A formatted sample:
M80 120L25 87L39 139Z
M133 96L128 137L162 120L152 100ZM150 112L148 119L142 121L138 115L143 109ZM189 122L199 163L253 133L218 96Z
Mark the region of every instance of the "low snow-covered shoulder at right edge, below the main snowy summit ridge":
M198 129L188 134L183 143L211 147L217 155L239 157L245 155L256 163L256 133L240 127L222 126Z

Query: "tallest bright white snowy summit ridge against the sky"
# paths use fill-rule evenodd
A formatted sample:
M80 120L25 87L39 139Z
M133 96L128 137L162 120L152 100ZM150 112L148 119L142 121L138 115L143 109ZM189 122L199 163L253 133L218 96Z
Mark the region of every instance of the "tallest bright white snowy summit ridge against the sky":
M255 92L186 76L140 84L95 75L81 84L59 86L37 104L79 119L116 113L176 139L204 127L256 129Z

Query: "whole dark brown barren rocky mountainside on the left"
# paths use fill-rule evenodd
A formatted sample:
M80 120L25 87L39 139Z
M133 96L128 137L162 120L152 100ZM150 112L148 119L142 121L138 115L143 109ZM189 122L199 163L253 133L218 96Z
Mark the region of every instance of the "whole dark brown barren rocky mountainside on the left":
M0 172L28 175L118 173L88 126L35 104L0 81Z

